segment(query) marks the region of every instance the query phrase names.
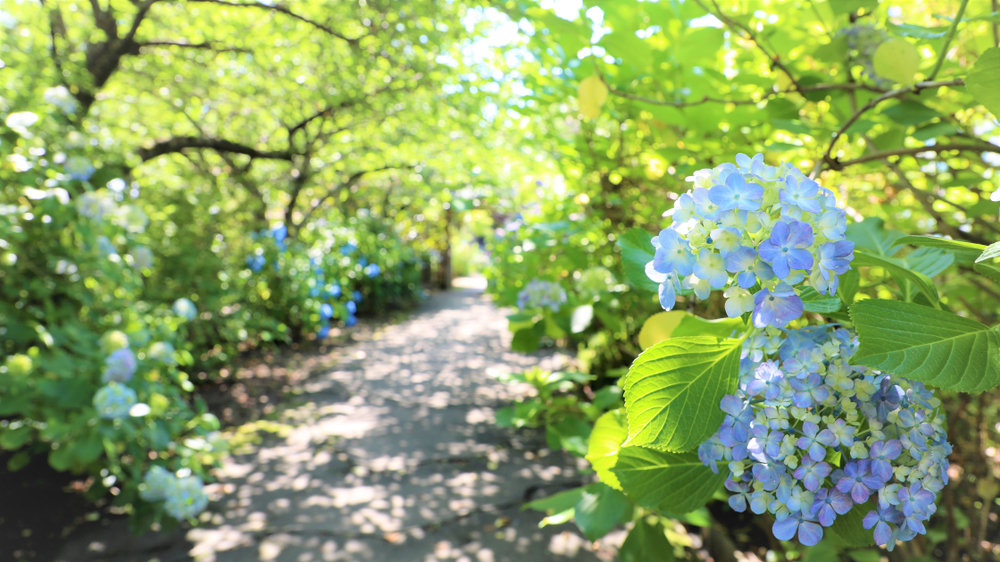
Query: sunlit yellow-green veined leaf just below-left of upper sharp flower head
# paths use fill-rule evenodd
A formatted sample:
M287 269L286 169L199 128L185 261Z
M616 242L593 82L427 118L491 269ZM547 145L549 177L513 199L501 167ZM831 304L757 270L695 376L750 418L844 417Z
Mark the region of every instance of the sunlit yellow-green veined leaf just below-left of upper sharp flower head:
M629 445L690 451L722 423L722 397L739 380L742 340L685 336L636 358L622 379Z

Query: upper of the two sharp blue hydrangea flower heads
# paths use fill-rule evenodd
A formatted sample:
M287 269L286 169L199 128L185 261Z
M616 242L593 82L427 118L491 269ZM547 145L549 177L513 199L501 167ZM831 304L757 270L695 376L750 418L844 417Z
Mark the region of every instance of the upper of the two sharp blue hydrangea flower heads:
M694 188L667 211L672 222L653 238L656 253L646 264L664 309L684 291L704 300L723 290L729 317L752 312L754 326L783 328L804 312L796 285L836 292L854 243L845 239L846 215L833 193L760 154L687 179Z

